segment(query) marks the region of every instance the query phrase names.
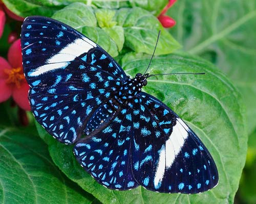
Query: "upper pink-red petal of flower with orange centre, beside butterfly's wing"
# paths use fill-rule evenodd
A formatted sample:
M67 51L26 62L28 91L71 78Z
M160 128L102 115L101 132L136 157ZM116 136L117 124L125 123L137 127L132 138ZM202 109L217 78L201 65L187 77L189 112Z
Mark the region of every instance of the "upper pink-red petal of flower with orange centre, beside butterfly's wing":
M22 46L17 39L8 50L8 61L13 68L22 67Z

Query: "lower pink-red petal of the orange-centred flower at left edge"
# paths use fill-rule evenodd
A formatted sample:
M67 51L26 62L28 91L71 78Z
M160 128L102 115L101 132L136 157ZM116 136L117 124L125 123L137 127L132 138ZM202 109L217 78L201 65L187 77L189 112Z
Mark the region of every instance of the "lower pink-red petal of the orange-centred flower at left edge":
M25 81L24 83L21 84L19 88L14 87L12 91L13 100L16 102L16 104L20 108L26 111L31 110L29 105L28 92L29 92L29 85Z

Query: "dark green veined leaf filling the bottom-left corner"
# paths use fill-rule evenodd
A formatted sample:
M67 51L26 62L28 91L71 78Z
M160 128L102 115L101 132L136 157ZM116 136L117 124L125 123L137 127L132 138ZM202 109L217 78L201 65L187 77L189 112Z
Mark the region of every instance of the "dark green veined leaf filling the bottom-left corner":
M92 203L52 162L47 145L28 131L0 127L1 203Z

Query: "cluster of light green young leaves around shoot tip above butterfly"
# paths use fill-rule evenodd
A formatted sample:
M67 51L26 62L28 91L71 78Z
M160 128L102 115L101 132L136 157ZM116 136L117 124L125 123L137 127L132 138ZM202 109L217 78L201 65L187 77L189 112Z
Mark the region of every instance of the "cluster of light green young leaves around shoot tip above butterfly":
M118 55L123 45L137 53L152 54L160 30L162 34L156 55L169 54L180 47L157 18L141 8L93 10L85 4L73 3L52 17L88 36L113 57Z

